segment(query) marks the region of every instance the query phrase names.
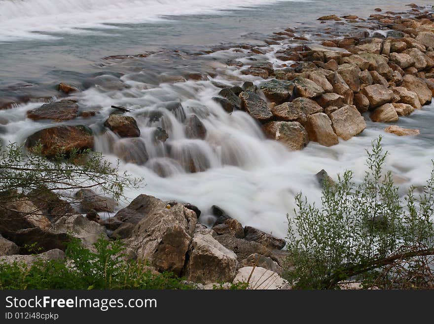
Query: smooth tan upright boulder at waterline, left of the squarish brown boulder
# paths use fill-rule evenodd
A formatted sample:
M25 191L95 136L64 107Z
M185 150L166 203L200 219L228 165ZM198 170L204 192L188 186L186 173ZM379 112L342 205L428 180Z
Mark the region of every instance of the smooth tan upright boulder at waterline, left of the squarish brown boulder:
M331 126L331 121L323 112L307 116L306 131L310 141L324 146L339 144L339 140Z

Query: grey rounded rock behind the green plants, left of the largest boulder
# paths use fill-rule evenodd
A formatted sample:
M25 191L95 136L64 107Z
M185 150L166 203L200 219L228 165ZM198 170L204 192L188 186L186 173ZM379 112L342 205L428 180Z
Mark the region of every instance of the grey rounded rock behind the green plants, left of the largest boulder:
M81 239L83 244L88 246L97 242L99 238L109 239L106 228L103 225L90 221L81 215L63 216L54 223L53 229L69 233L73 237Z

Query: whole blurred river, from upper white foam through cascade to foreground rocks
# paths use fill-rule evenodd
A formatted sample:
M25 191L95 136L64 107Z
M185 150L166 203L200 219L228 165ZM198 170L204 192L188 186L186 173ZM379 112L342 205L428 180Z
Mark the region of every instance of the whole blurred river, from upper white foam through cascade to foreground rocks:
M216 82L240 85L263 79L242 75L227 59L249 62L248 50L227 49L196 55L219 44L260 44L272 32L292 27L314 39L321 15L354 13L367 17L373 8L404 10L408 1L267 1L267 0L0 0L0 99L58 96L55 85L70 82L86 89L74 94L80 110L97 115L78 117L65 124L86 124L96 134L96 149L110 160L125 151L143 161L124 163L122 169L144 177L145 187L131 190L132 199L146 193L164 200L188 202L202 211L200 221L211 223L217 205L243 225L284 237L286 214L302 190L319 202L321 188L315 174L325 169L332 177L346 169L364 175L371 141L384 136L390 151L388 170L398 183L423 185L434 157L434 105L425 106L399 126L417 128L416 137L384 132L385 124L372 123L349 141L324 147L311 142L301 151L266 140L260 126L243 111L225 112L214 100ZM283 44L272 45L267 54ZM120 54L155 53L146 58L118 60ZM210 51L211 52L211 51ZM104 59L106 58L106 59ZM191 73L202 80L168 82ZM188 77L186 77L188 78ZM213 84L214 81L214 84ZM181 106L180 106L181 104ZM0 139L23 143L35 131L52 125L32 121L26 111L41 105L28 102L0 110ZM119 139L102 126L111 105L134 109L141 130L139 140ZM195 114L207 130L204 140L188 139L185 116ZM157 127L169 134L155 144ZM192 173L192 169L202 172ZM123 202L126 205L127 202Z

